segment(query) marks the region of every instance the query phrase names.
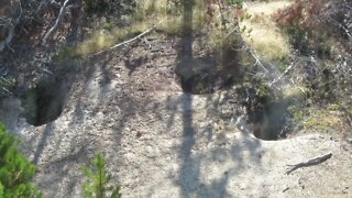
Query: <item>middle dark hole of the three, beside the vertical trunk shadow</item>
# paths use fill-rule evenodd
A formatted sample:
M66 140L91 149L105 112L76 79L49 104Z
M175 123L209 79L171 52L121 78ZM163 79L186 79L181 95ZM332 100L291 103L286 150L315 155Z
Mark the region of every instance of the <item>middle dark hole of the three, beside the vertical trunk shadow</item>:
M216 55L193 58L176 68L178 82L185 92L193 95L212 94L241 81L237 52L223 50Z

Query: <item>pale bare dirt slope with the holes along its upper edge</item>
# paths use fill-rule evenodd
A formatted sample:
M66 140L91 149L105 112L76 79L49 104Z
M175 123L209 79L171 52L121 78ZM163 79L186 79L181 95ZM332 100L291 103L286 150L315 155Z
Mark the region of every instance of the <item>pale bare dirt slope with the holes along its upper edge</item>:
M44 197L82 197L80 168L97 151L123 197L352 196L351 141L319 133L257 140L221 120L229 103L241 112L235 94L183 92L175 41L148 42L125 58L111 52L70 63L62 116L18 128ZM287 164L329 152L327 162L285 175Z

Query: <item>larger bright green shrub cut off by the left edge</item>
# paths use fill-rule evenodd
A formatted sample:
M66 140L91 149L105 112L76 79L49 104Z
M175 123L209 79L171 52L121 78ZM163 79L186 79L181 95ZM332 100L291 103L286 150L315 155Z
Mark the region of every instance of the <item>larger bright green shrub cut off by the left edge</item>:
M19 140L0 124L0 198L42 197L31 184L35 167L19 151Z

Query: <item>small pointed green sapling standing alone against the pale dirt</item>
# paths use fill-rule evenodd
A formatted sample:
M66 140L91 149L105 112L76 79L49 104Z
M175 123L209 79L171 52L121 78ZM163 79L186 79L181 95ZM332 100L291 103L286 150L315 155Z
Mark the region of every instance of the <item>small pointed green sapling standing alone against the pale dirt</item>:
M88 198L121 198L120 186L109 185L110 175L106 170L106 161L101 153L98 153L91 161L90 166L82 168L88 180L84 183L82 190ZM108 196L110 195L110 196Z

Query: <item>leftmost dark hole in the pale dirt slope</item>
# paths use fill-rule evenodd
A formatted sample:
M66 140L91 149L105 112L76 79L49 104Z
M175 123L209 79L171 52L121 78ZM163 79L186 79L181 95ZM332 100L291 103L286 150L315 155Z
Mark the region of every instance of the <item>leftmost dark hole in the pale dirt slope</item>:
M46 79L21 97L23 116L34 127L56 120L62 111L67 89L63 80Z

